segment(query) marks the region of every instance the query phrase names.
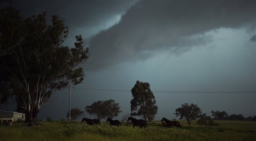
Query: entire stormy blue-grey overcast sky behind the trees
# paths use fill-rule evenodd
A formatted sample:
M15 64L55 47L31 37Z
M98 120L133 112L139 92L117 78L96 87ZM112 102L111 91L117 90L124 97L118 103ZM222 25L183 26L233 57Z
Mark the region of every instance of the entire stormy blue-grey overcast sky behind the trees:
M179 118L173 113L184 103L207 115L256 115L256 93L242 93L256 91L255 0L12 0L12 6L24 17L47 11L49 22L59 15L70 30L65 45L83 36L90 58L82 65L83 83L71 90L71 108L84 111L114 99L121 120L130 114L138 80L151 85L156 120ZM211 93L216 91L223 93ZM225 93L230 91L242 92ZM52 99L39 119L66 118L68 89Z

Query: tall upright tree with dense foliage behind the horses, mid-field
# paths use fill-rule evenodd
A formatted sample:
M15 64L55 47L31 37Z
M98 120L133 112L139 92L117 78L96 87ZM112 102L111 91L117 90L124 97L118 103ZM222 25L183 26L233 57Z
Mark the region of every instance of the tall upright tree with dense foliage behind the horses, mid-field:
M153 121L158 107L149 83L137 81L131 89L131 94L133 97L131 99L131 116L140 116L145 121Z

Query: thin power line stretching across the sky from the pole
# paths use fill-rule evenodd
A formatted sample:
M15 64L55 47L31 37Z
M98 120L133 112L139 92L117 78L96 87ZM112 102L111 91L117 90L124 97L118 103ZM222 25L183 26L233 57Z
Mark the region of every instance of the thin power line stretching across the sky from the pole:
M74 89L85 89L85 90L94 90L94 91L115 91L115 92L131 92L129 90L117 90L117 89L91 89L91 88L74 88ZM256 94L256 91L152 91L159 93L248 93L248 94Z

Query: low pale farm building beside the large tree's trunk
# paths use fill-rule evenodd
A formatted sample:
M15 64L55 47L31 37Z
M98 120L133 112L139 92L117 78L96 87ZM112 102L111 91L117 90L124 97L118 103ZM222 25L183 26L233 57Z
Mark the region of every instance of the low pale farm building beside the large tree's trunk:
M0 122L3 121L17 121L17 120L25 120L25 114L17 113L14 111L1 111L0 110Z

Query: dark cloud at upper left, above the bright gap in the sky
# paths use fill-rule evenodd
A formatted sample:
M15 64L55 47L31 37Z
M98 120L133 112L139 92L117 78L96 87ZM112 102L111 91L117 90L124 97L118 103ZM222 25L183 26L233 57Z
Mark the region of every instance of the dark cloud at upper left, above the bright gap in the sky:
M47 11L48 21L59 15L70 30L89 31L99 28L113 16L125 13L137 0L14 0L11 6L21 10L24 17ZM86 34L79 33L76 34ZM90 33L88 33L90 34ZM75 35L72 35L75 36ZM84 36L84 35L83 35Z

